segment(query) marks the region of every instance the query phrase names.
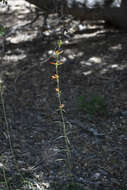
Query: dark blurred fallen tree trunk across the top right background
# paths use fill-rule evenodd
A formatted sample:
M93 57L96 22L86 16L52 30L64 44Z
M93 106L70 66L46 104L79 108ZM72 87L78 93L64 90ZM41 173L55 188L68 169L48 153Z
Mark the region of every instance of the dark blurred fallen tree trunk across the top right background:
M47 13L62 12L79 20L106 20L127 29L127 0L26 0Z

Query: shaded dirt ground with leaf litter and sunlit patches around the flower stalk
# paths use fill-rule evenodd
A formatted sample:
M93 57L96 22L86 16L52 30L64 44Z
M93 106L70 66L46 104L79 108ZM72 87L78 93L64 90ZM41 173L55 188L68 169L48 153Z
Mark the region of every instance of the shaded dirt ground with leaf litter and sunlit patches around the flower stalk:
M43 15L29 24L36 13L25 1L0 6L6 28L0 38L0 190L67 189L50 64L63 23L68 33L59 72L73 178L80 184L75 189L127 189L127 33L70 17L60 23L55 14L44 28Z

